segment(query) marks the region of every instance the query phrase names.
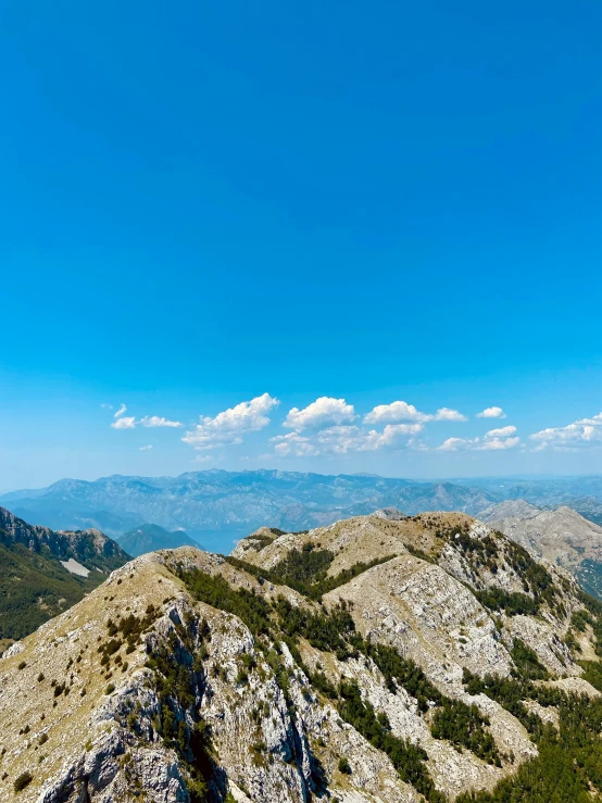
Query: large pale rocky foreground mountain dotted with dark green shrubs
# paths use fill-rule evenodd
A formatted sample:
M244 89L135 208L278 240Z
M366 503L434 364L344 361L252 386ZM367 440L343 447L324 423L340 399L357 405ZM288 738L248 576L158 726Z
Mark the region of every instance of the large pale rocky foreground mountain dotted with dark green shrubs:
M465 514L150 553L0 660L0 800L585 803L601 655L602 605Z

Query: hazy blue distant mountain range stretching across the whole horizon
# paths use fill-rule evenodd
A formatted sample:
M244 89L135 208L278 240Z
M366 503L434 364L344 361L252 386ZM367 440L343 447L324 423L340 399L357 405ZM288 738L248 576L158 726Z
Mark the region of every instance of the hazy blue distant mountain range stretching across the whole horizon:
M310 529L388 506L410 515L461 511L478 516L512 500L538 509L569 505L602 524L598 476L427 482L376 475L211 469L178 477L62 479L48 488L5 493L0 504L53 529L97 528L120 538L152 523L171 531L183 529L208 549L229 552L236 540L264 525L287 531Z

